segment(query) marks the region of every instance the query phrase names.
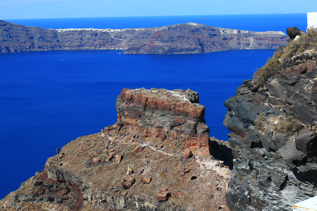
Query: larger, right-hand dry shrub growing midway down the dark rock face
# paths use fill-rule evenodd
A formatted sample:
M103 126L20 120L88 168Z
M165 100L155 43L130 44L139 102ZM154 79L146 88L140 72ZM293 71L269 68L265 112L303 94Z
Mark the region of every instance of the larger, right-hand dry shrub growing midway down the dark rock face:
M298 119L294 118L293 116L288 116L284 121L279 121L273 130L277 131L278 133L291 136L301 130L301 128L302 124Z

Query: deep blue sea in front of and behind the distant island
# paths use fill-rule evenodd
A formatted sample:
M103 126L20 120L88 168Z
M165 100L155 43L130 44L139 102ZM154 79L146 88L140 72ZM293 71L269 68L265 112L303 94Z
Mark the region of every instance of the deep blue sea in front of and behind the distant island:
M305 14L6 20L44 28L140 28L197 22L252 31L305 31ZM223 102L274 50L125 55L115 50L0 55L0 198L44 168L67 142L116 121L123 88L191 89L205 105L210 136L228 140ZM64 61L61 61L61 59Z

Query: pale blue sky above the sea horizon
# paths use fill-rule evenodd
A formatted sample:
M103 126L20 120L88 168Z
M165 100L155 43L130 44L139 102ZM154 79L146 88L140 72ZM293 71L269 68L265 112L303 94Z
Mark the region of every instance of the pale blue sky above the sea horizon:
M0 19L306 13L317 1L0 0Z

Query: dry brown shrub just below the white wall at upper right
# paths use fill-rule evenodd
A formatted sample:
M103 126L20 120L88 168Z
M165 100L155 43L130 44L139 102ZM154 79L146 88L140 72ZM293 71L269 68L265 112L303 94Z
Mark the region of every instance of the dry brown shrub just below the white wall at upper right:
M317 47L317 28L308 28L306 34L302 34L298 39L292 40L285 48L286 57L293 57L304 53L306 50Z

